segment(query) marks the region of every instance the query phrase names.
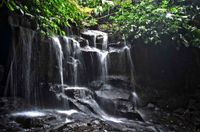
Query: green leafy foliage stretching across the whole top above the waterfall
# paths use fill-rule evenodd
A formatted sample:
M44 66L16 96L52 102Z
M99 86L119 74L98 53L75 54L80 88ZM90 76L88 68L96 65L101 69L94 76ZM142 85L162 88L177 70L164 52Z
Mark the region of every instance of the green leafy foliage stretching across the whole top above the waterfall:
M160 44L170 38L200 47L200 7L187 0L2 0L10 11L37 23L43 34L64 35L65 27L99 27L130 40ZM138 1L138 0L136 0ZM186 4L187 3L187 4ZM190 4L188 4L190 3ZM110 16L110 19L105 19Z

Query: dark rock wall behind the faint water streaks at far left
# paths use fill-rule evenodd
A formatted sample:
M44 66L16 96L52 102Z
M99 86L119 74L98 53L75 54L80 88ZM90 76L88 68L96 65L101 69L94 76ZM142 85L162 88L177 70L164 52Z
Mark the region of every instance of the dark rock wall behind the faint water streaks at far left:
M35 24L26 16L10 13L6 7L0 8L0 12L0 97L13 96L11 90L17 88L15 94L24 98L26 96L24 72L27 71L24 60L27 57L24 56L26 51L23 44L29 40L30 32L35 32ZM52 92L49 92L48 85L49 82L59 79L55 79L57 74L52 77L48 72L51 70L56 72L57 70L56 68L49 70L51 66L49 61L51 40L42 39L37 32L34 34L34 37L30 39L31 42L27 42L27 46L31 45L32 47L29 75L30 96L37 96L38 100L42 101L35 102L34 98L31 103L47 107L52 104L59 106L60 102L54 101L56 97ZM24 42L22 41L23 37ZM13 80L13 78L16 79ZM41 83L38 83L39 81ZM8 94L5 94L5 91ZM34 95L36 93L38 94ZM51 103L46 104L46 102Z

